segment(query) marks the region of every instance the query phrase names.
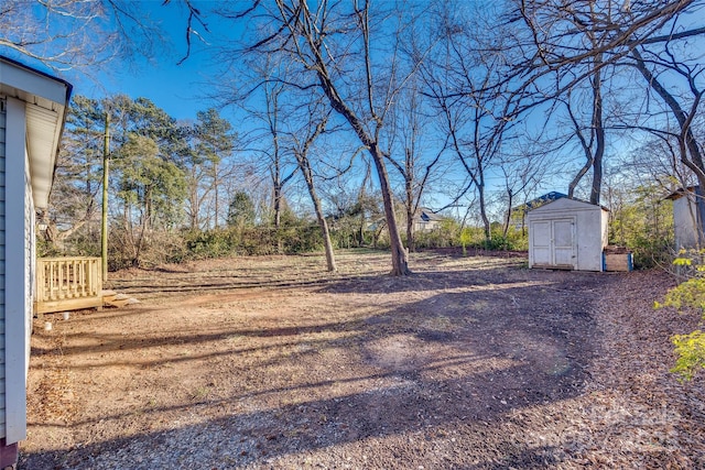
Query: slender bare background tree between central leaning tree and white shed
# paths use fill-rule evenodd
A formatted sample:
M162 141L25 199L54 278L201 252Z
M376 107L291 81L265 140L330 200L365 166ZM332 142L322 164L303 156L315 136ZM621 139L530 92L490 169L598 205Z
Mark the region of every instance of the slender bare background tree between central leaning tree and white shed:
M485 45L477 32L490 23L479 11L473 10L473 20L448 11L442 15L438 26L442 41L435 61L422 69L426 94L435 103L443 132L448 135L449 151L469 178L470 184L463 190L477 192L485 238L489 240L487 174L516 123L512 116L520 101L512 99L507 83L501 84L507 64L505 47L498 43L489 50Z

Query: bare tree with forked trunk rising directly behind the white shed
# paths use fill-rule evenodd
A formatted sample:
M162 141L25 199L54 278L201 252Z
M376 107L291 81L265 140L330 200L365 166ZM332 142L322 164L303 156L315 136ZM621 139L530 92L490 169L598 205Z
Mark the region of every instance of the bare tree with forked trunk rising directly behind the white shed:
M680 14L701 8L696 0L652 2L553 2L547 0L517 0L516 9L505 18L527 26L518 33L516 58L505 80L520 84L518 92L531 98L522 110L564 99L583 83L592 90L592 118L588 127L568 116L577 131L577 139L586 156L585 164L571 182L573 193L581 178L592 168L590 201L599 203L603 157L606 147L603 87L608 67L623 65L636 57L638 48L662 42ZM693 28L676 36L691 36L705 32ZM553 74L554 79L547 80ZM612 81L615 83L615 81ZM547 84L551 84L550 86ZM567 98L566 98L567 97Z

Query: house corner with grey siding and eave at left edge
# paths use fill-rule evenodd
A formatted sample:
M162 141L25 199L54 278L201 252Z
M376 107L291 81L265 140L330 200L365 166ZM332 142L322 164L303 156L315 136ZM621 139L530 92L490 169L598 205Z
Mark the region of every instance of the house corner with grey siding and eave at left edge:
M70 90L0 56L0 469L26 438L35 209L48 203Z

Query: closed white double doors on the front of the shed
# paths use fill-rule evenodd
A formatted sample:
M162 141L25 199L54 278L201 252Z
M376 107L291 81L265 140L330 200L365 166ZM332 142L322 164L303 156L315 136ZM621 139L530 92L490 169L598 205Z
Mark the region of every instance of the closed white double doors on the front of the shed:
M575 269L575 219L535 220L529 227L533 264Z

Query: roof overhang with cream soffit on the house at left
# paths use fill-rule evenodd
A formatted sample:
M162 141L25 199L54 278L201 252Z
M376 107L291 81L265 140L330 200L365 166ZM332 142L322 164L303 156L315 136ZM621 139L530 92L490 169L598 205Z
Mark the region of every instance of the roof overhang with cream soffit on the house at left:
M69 83L0 56L0 95L25 103L26 152L36 208L48 205L70 91Z

